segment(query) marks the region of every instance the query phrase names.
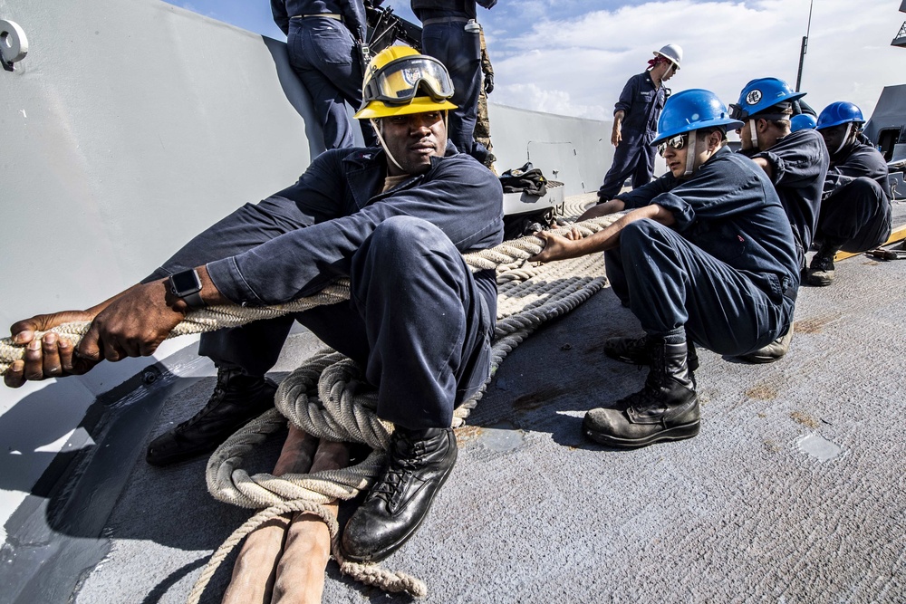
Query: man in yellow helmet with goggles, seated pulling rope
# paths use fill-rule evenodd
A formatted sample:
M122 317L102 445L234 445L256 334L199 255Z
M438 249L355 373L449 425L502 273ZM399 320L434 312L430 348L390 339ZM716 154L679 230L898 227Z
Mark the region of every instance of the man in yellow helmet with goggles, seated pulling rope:
M169 465L211 451L273 407L276 385L265 373L299 321L360 364L378 417L394 425L387 465L342 537L347 559L379 561L428 513L456 463L453 409L490 373L494 270L472 273L462 254L503 240L503 191L448 144L453 86L442 64L394 46L374 57L364 84L357 117L371 120L386 153L327 150L294 185L226 216L139 285L88 311L16 322L23 344L61 319L92 327L78 355L55 334L41 337L5 383L149 355L194 307L280 304L348 278L350 302L203 335L217 388L195 417L150 443L147 459Z

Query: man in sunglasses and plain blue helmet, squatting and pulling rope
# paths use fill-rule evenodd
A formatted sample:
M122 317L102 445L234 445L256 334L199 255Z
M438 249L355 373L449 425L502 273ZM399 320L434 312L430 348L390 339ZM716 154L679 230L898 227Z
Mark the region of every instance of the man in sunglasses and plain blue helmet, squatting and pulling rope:
M540 233L551 261L605 251L612 290L641 322L641 338L612 338L605 352L651 367L639 392L585 415L586 436L637 447L699 433L692 341L738 356L766 345L793 320L799 285L793 233L765 171L726 147L729 117L713 92L667 101L660 151L670 173L612 203L629 210L582 239Z

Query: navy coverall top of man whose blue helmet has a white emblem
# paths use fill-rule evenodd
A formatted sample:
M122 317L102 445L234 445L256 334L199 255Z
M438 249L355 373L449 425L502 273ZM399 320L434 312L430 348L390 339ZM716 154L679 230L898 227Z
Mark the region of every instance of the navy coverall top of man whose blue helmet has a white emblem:
M770 164L770 179L793 227L799 266L805 267L805 253L818 226L821 192L830 161L824 139L817 130L798 130L750 157L765 158Z

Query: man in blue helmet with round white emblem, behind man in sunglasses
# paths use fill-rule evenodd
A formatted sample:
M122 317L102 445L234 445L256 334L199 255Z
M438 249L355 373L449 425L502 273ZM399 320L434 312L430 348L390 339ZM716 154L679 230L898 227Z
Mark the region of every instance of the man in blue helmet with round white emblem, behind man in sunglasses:
M805 252L812 244L818 222L821 190L827 174L824 140L813 129L791 132L794 106L805 92L795 92L786 81L758 78L749 81L730 105L730 117L743 122L737 129L741 153L758 164L777 191L793 228L796 258L805 270ZM805 115L805 114L800 114ZM809 116L811 117L811 116ZM779 339L741 357L753 363L770 363L789 350L793 324Z

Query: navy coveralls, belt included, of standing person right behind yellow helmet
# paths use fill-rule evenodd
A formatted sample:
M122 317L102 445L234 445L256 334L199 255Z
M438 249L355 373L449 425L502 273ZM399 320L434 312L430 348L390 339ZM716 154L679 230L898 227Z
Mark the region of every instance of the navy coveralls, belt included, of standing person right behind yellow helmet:
M477 0L490 8L496 0ZM448 138L463 153L472 153L475 141L478 94L481 91L481 38L464 28L476 18L476 0L412 0L412 12L421 21L421 52L442 62L453 81Z

